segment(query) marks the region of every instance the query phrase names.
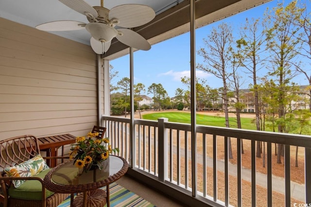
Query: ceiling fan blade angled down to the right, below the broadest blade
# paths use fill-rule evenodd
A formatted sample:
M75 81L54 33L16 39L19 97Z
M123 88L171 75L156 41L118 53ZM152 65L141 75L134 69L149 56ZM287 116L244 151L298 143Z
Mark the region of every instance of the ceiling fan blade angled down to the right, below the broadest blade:
M123 35L117 35L116 38L124 45L142 50L151 48L149 42L137 32L129 29L118 29L118 32L123 33Z

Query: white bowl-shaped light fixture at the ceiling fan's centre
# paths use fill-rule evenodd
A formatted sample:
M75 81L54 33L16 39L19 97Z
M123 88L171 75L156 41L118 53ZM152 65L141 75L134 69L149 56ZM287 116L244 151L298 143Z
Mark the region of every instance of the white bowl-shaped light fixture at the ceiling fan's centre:
M97 41L110 42L112 38L117 36L118 31L103 23L92 22L86 25L86 30Z

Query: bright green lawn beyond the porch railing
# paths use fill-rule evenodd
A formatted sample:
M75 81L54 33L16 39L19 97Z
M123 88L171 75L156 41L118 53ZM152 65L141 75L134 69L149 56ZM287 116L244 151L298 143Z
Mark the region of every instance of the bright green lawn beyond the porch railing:
M169 119L169 122L179 122L190 124L190 113L171 111L171 112L159 112L159 113L149 113L142 115L143 119L157 120L158 118L165 117ZM241 118L243 129L254 129L256 130L256 125L252 123L251 118ZM209 116L204 114L196 114L196 124L197 125L208 125L214 127L225 127L225 117L220 116ZM235 118L229 118L229 124L232 128L236 127Z

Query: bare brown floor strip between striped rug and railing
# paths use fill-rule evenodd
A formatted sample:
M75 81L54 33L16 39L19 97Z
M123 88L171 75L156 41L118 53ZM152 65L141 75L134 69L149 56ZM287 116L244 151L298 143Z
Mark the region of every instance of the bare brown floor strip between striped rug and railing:
M187 207L165 194L146 186L130 175L124 175L117 183L149 201L156 207Z

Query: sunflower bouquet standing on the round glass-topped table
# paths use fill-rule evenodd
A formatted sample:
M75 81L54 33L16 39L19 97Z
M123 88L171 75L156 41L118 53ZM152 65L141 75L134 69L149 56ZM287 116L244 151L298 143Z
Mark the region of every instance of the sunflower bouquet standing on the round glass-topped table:
M109 158L109 154L119 152L118 148L111 148L108 138L97 139L97 136L98 132L89 132L86 137L77 137L76 143L71 145L69 159L85 172L94 167L102 169L102 162Z

